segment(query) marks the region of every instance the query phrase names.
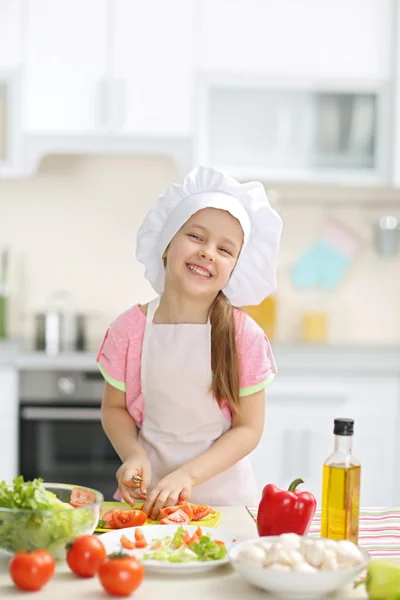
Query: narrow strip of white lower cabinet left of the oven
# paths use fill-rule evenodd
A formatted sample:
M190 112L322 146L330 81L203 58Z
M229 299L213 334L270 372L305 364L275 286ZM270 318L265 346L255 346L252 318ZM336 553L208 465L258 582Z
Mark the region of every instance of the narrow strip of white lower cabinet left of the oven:
M18 373L0 366L0 481L18 475Z

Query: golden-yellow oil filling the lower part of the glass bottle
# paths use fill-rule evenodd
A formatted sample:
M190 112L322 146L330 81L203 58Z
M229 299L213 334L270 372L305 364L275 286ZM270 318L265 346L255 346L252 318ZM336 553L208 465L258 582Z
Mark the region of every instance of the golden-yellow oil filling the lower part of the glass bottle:
M360 465L324 465L321 537L358 543Z

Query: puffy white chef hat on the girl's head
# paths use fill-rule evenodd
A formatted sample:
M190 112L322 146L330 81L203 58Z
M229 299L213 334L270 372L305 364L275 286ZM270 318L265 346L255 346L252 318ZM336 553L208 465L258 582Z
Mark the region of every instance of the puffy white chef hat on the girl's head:
M228 211L243 229L242 250L223 292L235 306L259 304L276 289L282 220L271 208L261 183L239 183L210 167L196 167L182 185L171 185L147 213L136 246L146 279L162 293L163 253L186 221L203 208Z

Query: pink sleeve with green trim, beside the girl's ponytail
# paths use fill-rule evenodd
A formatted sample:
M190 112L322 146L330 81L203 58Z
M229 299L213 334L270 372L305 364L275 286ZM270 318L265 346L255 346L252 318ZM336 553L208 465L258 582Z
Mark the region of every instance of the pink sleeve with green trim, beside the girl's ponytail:
M240 396L250 396L271 383L277 368L271 345L261 327L246 313L242 313L238 321Z

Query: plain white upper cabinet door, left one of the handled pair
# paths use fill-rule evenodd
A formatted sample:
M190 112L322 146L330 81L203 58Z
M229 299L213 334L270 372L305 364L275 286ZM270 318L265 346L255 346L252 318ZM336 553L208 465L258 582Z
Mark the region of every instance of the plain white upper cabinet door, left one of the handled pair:
M105 125L107 0L27 0L24 128L93 133Z

